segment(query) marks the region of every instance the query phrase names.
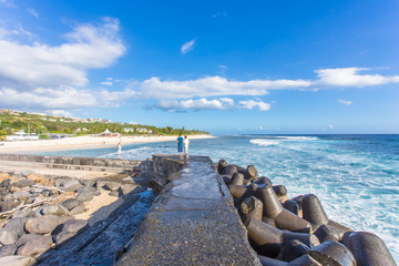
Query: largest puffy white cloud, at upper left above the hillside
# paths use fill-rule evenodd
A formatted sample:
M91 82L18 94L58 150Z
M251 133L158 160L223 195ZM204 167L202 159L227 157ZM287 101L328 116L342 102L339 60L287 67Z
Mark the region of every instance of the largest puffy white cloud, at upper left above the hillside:
M0 82L21 91L83 86L89 69L110 66L125 52L119 28L119 20L110 18L100 27L81 24L55 47L0 40Z

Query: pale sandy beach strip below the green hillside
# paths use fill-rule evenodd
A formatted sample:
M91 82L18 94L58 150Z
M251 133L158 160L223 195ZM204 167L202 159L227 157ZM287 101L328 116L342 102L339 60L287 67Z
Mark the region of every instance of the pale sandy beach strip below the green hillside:
M177 136L76 136L58 140L14 141L1 142L0 153L32 153L45 151L69 151L82 149L116 147L122 140L122 145L151 142L175 141ZM213 139L212 135L191 135L188 139Z

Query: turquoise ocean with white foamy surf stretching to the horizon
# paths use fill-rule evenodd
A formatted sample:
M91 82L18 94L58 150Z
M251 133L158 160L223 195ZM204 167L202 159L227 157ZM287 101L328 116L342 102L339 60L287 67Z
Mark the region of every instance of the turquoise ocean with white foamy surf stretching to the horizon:
M175 154L175 142L132 144L121 158ZM51 155L116 157L115 149ZM225 135L191 140L192 155L241 166L287 187L288 196L317 195L330 219L381 237L399 262L399 135Z

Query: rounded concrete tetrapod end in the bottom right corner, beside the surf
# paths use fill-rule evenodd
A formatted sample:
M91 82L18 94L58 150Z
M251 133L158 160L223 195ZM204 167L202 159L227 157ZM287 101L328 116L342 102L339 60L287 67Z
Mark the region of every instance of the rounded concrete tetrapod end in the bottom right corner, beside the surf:
M347 246L354 254L358 266L397 265L387 245L377 235L369 232L348 233Z

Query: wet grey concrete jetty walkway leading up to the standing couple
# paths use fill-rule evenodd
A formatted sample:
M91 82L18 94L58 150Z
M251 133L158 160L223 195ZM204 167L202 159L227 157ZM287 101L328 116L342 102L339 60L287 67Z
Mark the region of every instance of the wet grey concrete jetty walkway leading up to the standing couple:
M180 177L162 190L117 265L260 265L209 157L155 157L158 173L181 168Z

